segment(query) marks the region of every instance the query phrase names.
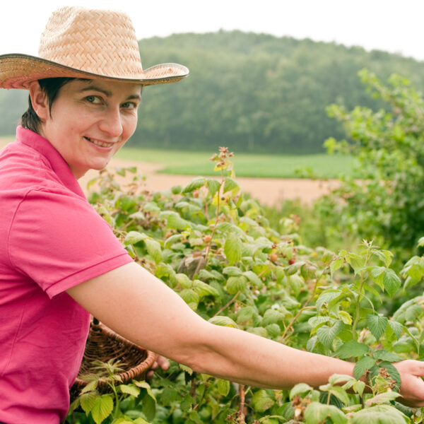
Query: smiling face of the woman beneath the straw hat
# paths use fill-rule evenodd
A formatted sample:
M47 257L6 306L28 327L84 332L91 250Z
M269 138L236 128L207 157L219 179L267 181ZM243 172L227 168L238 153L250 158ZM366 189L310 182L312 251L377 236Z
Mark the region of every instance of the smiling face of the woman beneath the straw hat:
M30 94L42 120L40 135L59 151L77 179L89 169L103 169L136 129L139 84L72 80L60 88L51 116L38 83Z

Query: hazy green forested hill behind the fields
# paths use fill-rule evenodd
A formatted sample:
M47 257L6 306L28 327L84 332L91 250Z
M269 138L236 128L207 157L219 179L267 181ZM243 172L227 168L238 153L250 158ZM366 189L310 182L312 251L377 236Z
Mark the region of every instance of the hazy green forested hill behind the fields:
M343 135L326 117L327 105L379 107L360 83L360 69L383 79L399 73L424 88L424 62L334 43L219 31L153 37L139 45L145 69L173 61L189 67L190 75L143 90L132 146L314 153L327 137ZM26 97L0 90L1 134L13 134Z

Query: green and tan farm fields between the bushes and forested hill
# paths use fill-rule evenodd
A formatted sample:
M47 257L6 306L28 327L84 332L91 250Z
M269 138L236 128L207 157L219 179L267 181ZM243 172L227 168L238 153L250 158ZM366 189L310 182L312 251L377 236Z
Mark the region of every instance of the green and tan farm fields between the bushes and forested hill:
M0 148L13 141L13 136L0 137ZM213 153L213 152L211 152ZM173 185L188 184L194 175L215 175L211 153L142 150L124 148L111 161L110 167L136 166L146 176L146 189L153 192L170 189ZM352 158L331 155L235 155L237 181L244 192L263 204L275 206L284 200L300 199L303 204L314 200L336 187L331 178L352 172ZM298 175L296 168L310 167L315 175L329 181L314 180ZM98 175L90 170L79 182L83 189Z

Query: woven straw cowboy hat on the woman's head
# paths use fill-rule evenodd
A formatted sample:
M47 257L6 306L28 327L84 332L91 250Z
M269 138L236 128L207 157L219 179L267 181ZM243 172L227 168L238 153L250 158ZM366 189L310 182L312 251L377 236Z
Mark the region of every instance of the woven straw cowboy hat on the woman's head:
M129 16L119 11L63 7L52 13L41 35L38 57L0 55L0 88L28 88L42 78L101 78L152 84L174 83L189 70L160 64L143 70Z

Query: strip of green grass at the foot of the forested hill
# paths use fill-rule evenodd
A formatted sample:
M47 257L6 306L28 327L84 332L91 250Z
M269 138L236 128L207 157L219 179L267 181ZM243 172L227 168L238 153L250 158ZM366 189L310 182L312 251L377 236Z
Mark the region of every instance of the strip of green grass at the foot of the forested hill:
M117 158L162 164L164 168L160 172L167 174L216 175L209 160L212 153L123 148L117 153ZM233 159L237 177L299 178L314 174L336 178L351 175L353 165L353 158L346 155L252 155L236 152Z

